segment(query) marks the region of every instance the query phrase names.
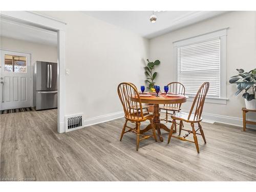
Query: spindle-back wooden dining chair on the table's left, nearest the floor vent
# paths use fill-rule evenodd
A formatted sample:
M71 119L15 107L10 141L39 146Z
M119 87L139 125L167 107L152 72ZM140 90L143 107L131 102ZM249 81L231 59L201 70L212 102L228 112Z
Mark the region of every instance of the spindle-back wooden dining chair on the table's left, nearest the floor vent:
M122 140L123 134L127 132L133 132L137 135L137 147L136 150L139 149L139 142L143 139L148 139L154 136L155 141L157 141L155 126L153 123L153 115L144 113L142 110L142 104L140 100L140 95L136 89L136 87L129 82L122 82L118 85L117 88L118 96L123 105L125 123L123 125L122 133L120 136L120 141ZM138 98L137 102L132 98ZM139 110L136 110L139 109ZM144 135L143 130L140 130L140 123L146 120L150 120L152 126L153 135ZM127 121L135 122L136 127L132 128L127 126ZM129 129L125 131L126 127ZM142 136L142 138L140 138Z

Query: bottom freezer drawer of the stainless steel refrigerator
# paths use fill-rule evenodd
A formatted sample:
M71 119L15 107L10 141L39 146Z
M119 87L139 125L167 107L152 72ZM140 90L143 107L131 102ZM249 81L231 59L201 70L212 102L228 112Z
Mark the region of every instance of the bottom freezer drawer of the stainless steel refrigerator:
M36 110L57 108L58 91L37 91Z

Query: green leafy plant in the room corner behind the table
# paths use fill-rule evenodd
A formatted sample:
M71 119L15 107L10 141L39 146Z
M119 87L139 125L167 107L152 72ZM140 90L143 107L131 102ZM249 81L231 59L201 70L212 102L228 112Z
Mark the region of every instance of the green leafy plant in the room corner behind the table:
M157 76L157 72L153 73L153 70L154 70L155 66L158 66L160 64L160 61L155 60L155 62L150 62L148 59L146 59L146 60L147 60L148 63L146 65L146 67L144 67L145 75L147 77L145 82L149 83L147 89L151 89L151 88L154 88L154 85L155 85L154 79Z

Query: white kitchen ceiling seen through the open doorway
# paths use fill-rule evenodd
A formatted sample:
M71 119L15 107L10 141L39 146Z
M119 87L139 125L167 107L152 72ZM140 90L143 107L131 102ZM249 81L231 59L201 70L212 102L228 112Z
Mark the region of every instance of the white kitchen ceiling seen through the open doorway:
M1 18L1 36L57 46L57 33Z

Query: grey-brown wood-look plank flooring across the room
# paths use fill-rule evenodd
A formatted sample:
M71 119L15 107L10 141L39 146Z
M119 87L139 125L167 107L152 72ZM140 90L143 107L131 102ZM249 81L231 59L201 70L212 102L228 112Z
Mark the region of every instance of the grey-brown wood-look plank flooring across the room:
M207 144L198 136L200 154L194 143L172 138L167 144L167 133L164 142L141 141L136 152L134 134L126 133L119 141L123 118L63 134L57 133L57 110L0 118L1 180L256 180L254 130L242 132L241 127L202 123Z

